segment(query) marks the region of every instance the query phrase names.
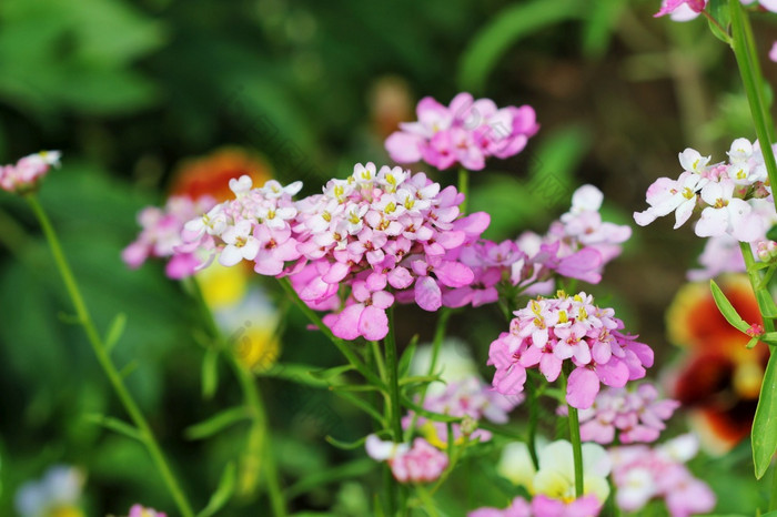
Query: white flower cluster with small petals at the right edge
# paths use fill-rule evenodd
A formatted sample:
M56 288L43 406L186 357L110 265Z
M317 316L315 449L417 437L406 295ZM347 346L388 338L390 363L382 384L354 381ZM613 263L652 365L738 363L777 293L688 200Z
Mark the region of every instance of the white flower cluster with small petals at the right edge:
M709 161L710 156L702 156L693 149L683 151L679 154L683 173L677 180L656 180L647 190L649 207L635 212L634 220L645 226L674 212L677 229L702 207L696 235L764 241L777 214L758 142L737 139L728 151L728 162L710 164Z

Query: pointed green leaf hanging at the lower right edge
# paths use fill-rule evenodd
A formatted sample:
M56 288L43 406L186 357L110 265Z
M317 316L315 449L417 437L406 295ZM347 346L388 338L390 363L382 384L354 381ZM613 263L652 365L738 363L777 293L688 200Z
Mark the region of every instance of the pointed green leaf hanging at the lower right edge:
M753 420L753 463L756 478L760 479L771 464L777 449L777 353L769 356L756 416Z

